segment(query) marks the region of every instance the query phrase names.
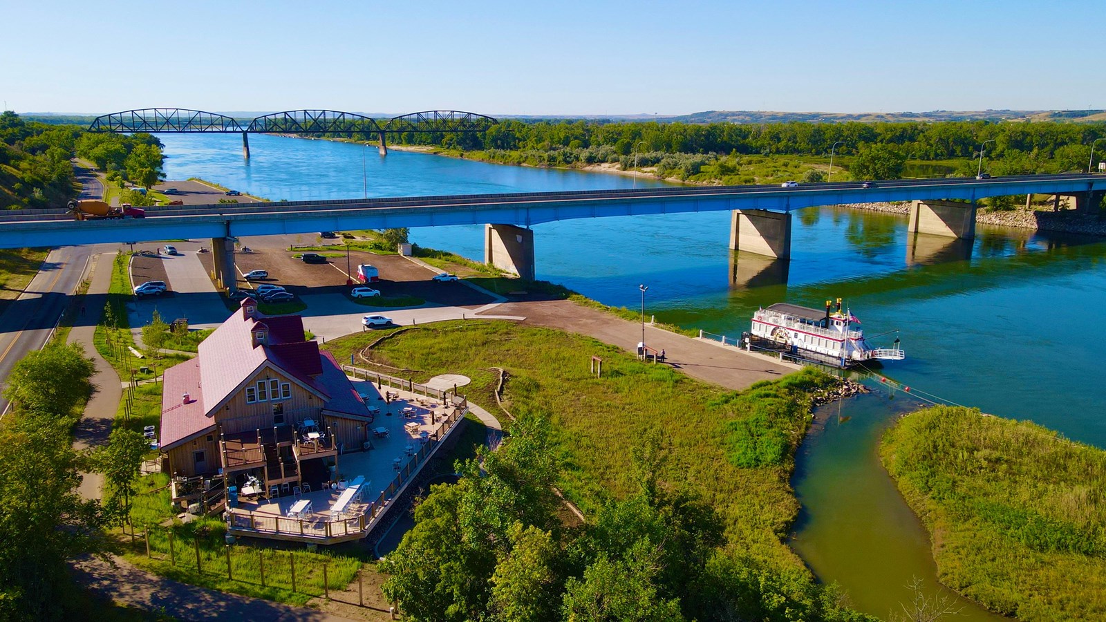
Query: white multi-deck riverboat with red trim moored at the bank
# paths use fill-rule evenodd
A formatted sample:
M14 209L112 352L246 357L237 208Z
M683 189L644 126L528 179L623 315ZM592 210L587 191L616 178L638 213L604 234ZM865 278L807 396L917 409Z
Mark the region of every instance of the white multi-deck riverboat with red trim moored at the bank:
M893 348L873 348L864 340L860 321L848 309L826 301L825 311L778 302L753 313L750 343L790 351L801 357L848 367L865 361L901 361L906 353L895 340Z

